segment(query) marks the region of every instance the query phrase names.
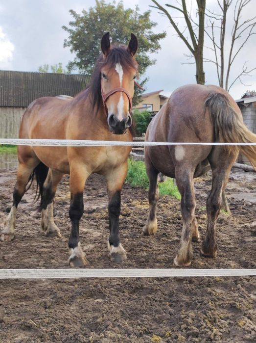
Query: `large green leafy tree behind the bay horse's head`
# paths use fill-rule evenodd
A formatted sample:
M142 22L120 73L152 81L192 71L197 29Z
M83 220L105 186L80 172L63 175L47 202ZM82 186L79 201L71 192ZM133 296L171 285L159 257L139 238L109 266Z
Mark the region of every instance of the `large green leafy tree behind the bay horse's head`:
M135 9L124 9L123 2L106 3L96 0L96 5L81 14L70 10L74 20L68 26L62 26L69 33L64 41L64 47L69 47L76 54L73 61L68 64L68 70L78 69L80 73L91 75L95 62L101 53L100 41L104 33L110 32L112 42L128 44L131 33L136 34L139 40L137 60L140 65L139 75L145 73L148 66L156 63L149 57L149 53L156 53L161 49L159 41L166 33L154 33L152 28L157 25L150 20L150 11L140 13L138 6ZM146 79L140 79L144 85ZM136 94L141 91L136 90ZM136 99L134 99L136 100ZM138 102L138 98L135 103Z

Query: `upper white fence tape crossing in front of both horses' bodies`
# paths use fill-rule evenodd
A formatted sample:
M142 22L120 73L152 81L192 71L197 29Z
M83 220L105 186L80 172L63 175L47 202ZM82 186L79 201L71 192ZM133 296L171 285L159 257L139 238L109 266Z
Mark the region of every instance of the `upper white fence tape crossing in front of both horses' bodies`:
M152 145L256 145L256 143L217 143L217 142L122 142L110 140L76 140L76 139L22 139L22 138L0 138L0 144L29 145L29 146L152 146Z

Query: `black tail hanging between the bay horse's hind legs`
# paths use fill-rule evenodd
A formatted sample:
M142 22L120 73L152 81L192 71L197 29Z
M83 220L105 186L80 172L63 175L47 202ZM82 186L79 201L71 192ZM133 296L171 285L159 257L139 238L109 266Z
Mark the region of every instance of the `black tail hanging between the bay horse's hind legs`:
M38 207L38 211L42 211L42 205L43 205L43 192L44 192L44 182L46 181L47 174L48 174L49 168L43 163L40 162L33 172L31 173L26 191L31 187L33 180L36 179L37 187L36 187L36 195L35 195L35 202L39 200L40 198L40 205Z

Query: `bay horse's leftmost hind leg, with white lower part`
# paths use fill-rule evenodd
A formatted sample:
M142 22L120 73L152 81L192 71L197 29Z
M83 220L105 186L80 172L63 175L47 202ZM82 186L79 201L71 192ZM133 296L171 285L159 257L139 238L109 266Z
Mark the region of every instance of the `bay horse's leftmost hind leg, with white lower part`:
M13 191L13 204L0 235L2 241L9 242L14 239L17 207L25 193L29 178L38 163L39 160L36 157L26 158L25 161L19 163L17 181Z

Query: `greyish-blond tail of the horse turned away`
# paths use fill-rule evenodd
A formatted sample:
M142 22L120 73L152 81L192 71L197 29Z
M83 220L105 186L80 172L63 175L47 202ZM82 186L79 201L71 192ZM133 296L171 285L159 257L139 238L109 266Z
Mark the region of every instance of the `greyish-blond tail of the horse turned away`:
M216 139L227 143L256 143L256 134L251 132L230 105L228 98L221 93L211 93L205 101L209 109ZM244 154L256 169L256 146L240 145L235 147Z

